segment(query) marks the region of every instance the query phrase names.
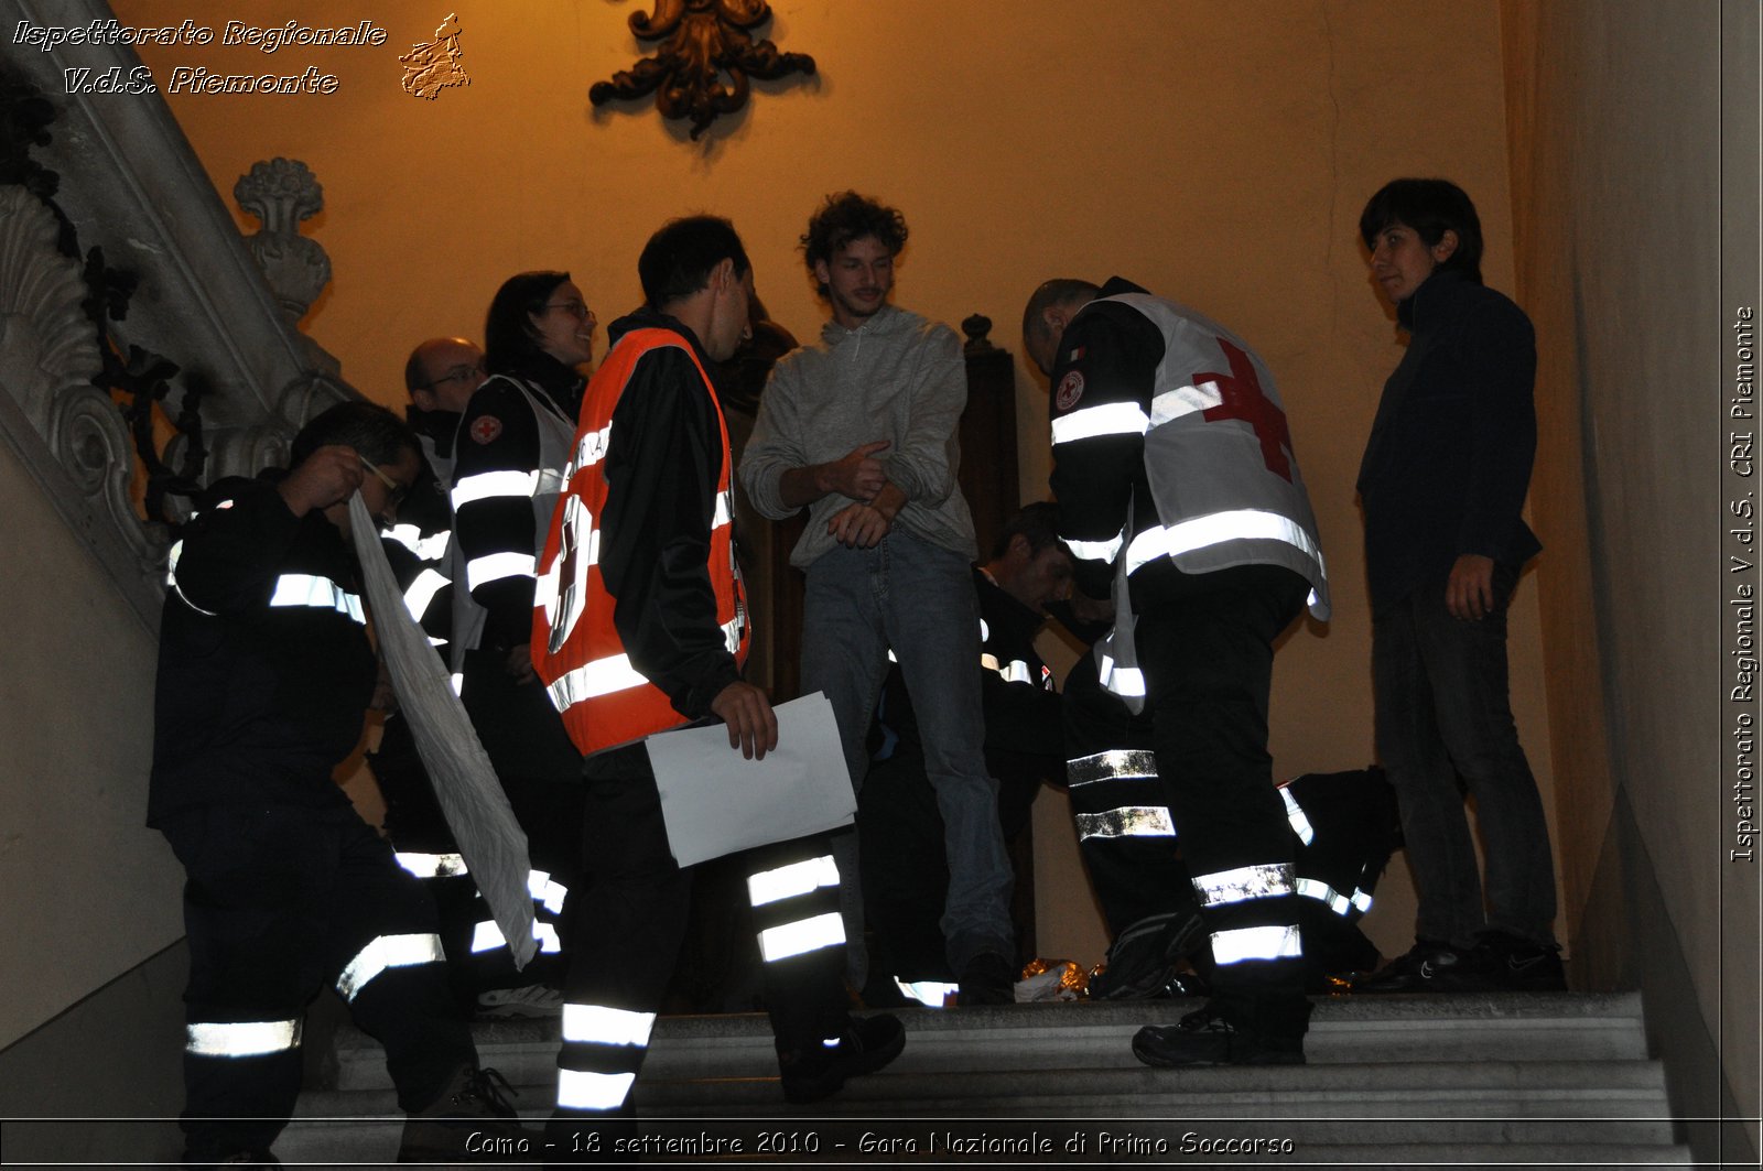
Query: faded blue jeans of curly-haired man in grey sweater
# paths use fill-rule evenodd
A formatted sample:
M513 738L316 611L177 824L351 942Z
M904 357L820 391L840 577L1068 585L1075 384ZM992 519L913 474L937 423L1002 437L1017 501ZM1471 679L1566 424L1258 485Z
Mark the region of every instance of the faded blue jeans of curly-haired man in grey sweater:
M1015 954L1010 859L998 825L998 785L986 772L978 601L966 557L894 529L874 548L834 548L807 568L802 603L802 691L825 691L839 723L852 785L869 767L869 720L892 647L924 737L924 767L943 815L948 901L943 942L959 977L980 952ZM867 977L857 834L834 838L848 940L848 973Z

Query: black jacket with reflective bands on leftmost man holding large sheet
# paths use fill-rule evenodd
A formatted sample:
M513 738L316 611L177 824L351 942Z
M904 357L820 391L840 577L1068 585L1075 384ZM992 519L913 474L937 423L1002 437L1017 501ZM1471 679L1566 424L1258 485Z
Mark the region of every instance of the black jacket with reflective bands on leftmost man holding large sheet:
M319 511L226 480L173 548L148 824L205 804L340 804L377 663L360 564Z

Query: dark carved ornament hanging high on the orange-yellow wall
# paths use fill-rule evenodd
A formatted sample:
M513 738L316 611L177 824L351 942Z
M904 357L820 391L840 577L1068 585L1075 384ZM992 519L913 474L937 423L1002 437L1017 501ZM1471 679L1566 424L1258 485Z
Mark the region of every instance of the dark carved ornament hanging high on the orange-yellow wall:
M631 12L629 23L638 41L663 44L610 81L596 81L587 99L605 106L654 93L663 118L691 118L696 141L716 118L748 104L749 78L815 72L813 56L779 53L770 41L749 35L769 19L767 0L656 0L654 12Z

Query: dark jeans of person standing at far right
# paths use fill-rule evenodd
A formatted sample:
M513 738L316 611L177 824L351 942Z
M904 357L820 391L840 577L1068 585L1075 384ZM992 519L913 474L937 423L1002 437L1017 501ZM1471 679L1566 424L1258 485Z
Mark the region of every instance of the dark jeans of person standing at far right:
M1419 885L1414 933L1453 947L1472 945L1484 926L1555 942L1548 824L1507 700L1506 610L1516 584L1516 568L1495 566L1495 608L1481 621L1451 617L1444 582L1430 582L1372 624L1377 753ZM1458 776L1486 847L1486 912Z

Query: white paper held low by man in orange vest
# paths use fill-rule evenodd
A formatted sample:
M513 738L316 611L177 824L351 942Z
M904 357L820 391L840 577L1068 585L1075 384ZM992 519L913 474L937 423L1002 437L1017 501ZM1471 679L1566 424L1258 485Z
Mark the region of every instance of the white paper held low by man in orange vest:
M723 725L645 741L668 845L681 866L855 820L857 794L827 697L815 691L772 711L777 748L765 760L748 760L730 748Z

